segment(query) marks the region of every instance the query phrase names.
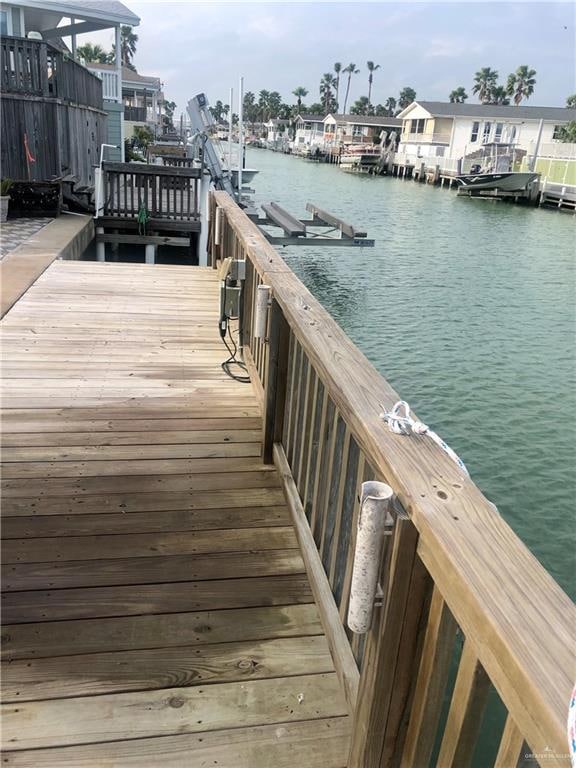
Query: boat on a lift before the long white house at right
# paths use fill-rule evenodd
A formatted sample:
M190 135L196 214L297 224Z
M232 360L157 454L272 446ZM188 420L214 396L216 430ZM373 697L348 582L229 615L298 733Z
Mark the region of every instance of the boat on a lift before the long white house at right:
M456 176L462 192L524 192L539 174L515 171L517 151L512 144L493 143L483 147L470 173Z

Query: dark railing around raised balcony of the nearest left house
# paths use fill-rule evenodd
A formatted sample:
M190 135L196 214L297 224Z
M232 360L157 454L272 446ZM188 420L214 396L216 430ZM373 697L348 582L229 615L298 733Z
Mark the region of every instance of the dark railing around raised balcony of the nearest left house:
M102 109L102 81L41 40L3 37L0 73L3 93L53 97Z

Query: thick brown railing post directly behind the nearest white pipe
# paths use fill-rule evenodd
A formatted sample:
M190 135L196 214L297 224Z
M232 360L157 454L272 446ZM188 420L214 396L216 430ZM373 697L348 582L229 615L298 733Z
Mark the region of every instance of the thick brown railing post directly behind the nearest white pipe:
M416 548L418 532L399 511L360 674L349 768L396 765L406 735L432 581Z

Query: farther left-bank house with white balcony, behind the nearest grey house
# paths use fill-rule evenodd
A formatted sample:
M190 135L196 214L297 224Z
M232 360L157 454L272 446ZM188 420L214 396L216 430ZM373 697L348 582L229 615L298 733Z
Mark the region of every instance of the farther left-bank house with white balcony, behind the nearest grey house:
M105 88L111 83L110 73L116 73L115 64L95 64L86 65L88 69L94 72L102 79ZM112 84L113 88L116 83ZM108 97L114 95L108 94ZM159 77L149 77L141 75L130 67L122 67L122 106L123 113L123 132L124 138L129 139L134 135L134 128L137 126L147 126L150 128L154 137L162 134L162 103L164 94L162 93L162 83Z

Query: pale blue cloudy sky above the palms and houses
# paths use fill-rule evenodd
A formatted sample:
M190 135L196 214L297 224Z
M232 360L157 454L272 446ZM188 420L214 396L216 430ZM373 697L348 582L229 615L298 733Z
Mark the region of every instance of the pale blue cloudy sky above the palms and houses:
M311 104L334 62L354 62L349 104L368 91L366 61L375 72L372 101L397 97L404 86L423 100L447 101L462 85L470 98L474 73L492 67L505 84L521 64L536 70L527 102L563 106L576 92L576 6L572 2L196 2L124 0L140 19L134 63L156 75L176 114L199 92L229 102L230 88L277 90L295 103L304 86ZM110 47L111 34L79 42ZM342 99L341 99L342 101ZM237 105L234 105L237 111Z

